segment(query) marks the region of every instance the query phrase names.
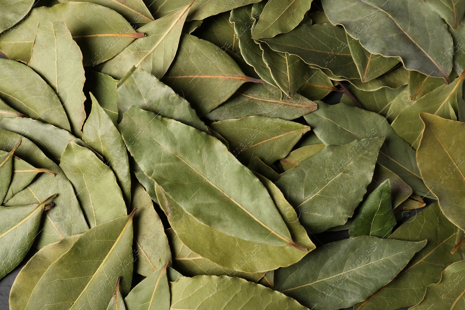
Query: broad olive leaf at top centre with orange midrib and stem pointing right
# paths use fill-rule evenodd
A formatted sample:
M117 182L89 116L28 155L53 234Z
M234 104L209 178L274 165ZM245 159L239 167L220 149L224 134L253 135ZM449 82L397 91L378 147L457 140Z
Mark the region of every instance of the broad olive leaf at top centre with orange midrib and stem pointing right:
M212 111L245 82L247 77L219 47L182 34L179 49L162 81L193 105L199 116Z

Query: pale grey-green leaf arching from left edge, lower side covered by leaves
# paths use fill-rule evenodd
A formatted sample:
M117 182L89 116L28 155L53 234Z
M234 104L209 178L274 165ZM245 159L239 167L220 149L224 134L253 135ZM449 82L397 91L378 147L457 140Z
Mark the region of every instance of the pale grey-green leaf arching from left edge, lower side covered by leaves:
M66 130L29 118L0 119L0 128L16 132L31 140L53 160L60 160L68 141L89 147Z

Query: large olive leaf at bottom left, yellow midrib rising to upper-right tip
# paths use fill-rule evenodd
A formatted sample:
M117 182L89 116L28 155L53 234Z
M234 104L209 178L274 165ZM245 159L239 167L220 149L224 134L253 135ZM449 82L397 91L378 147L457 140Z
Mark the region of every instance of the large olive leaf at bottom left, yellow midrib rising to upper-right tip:
M133 214L126 215L83 233L42 275L26 310L50 304L56 310L106 309L118 277L121 295L126 295L133 273L132 219ZM43 294L44 287L48 294Z

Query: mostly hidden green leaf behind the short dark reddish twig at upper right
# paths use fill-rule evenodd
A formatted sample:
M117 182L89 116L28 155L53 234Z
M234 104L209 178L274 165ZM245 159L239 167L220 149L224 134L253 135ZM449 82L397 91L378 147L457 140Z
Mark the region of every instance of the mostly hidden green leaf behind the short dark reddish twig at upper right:
M357 98L357 100L359 100L366 110L378 113L382 116L387 116L387 112L389 111L392 101L397 97L397 95L399 95L399 93L404 92L405 87L397 89L382 87L372 92L366 92L350 85L347 89L355 96L355 98ZM342 95L341 102L348 106L355 106L352 99L350 99L346 94Z

